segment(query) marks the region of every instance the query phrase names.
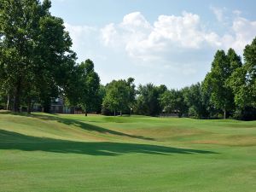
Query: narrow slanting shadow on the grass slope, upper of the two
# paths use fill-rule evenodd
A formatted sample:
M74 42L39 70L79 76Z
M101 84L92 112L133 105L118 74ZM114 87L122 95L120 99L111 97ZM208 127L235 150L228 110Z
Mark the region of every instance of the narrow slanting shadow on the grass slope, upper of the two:
M96 131L98 133L107 133L107 134L111 134L114 136L120 136L120 137L131 137L131 138L136 138L136 139L143 139L143 140L151 140L153 141L154 138L150 138L150 137L143 137L143 136L135 136L135 135L130 135L130 134L126 134L123 132L119 132L119 131L113 131L113 130L109 130L100 126L96 126L96 125L90 125L88 123L84 123L81 120L78 119L67 119L67 118L61 118L60 115L58 114L27 114L27 113L10 113L10 112L1 112L3 114L13 114L13 115L19 115L19 116L25 116L25 117L32 117L32 118L37 118L37 119L44 119L44 120L55 120L59 123L62 124L66 124L66 125L75 125L78 126L86 131Z

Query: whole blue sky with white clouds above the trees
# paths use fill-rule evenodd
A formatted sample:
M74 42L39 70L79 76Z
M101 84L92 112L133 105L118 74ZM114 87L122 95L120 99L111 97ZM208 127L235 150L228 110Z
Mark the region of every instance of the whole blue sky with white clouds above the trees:
M218 49L241 55L256 37L254 0L52 0L78 62L90 59L102 84L179 89L201 82Z

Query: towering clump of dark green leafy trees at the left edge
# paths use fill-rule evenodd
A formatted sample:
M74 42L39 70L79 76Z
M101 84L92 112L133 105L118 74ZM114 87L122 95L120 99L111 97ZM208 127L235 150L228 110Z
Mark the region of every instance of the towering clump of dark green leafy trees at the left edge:
M26 102L30 112L35 98L49 108L75 64L71 38L63 20L50 15L50 6L49 0L0 1L1 87L13 96L15 111Z

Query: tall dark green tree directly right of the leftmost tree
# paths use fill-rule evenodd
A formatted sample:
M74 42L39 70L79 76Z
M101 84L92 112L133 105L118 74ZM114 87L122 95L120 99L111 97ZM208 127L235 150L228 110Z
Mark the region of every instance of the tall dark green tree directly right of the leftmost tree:
M50 6L49 1L44 1L43 7L47 6ZM39 29L36 77L41 77L37 81L40 98L44 109L49 111L51 98L67 91L68 79L76 65L76 54L71 49L72 39L65 31L63 20L50 15L49 8L39 21Z

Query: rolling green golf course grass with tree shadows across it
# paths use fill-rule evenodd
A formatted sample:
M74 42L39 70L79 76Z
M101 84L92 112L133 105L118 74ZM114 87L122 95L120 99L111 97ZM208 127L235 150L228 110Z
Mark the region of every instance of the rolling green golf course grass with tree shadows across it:
M0 113L0 191L256 191L256 122Z

